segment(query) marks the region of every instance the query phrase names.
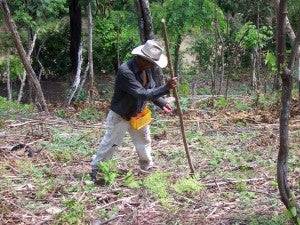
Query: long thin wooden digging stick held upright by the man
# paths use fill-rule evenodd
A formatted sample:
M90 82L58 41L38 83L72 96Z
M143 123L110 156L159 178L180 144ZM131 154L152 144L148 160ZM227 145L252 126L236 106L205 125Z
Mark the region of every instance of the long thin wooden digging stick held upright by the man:
M164 19L162 19L161 23L163 25L164 40L165 40L165 47L166 47L166 52L167 52L167 57L168 57L168 64L169 64L170 74L171 74L171 78L173 78L174 77L174 70L173 70L173 65L172 65L172 60L171 60L170 49L169 49L169 40L168 40L166 22L165 22ZM182 135L182 139L183 139L185 153L186 153L186 156L187 156L187 159L188 159L188 162L189 162L191 174L194 175L195 170L194 170L194 167L193 167L193 164L192 164L189 148L188 148L187 141L186 141L184 125L183 125L183 114L182 114L182 110L181 110L181 106L180 106L180 102L179 102L179 96L178 96L178 92L177 92L176 88L173 88L173 94L175 96L177 109L178 109L178 112L179 112L181 135Z

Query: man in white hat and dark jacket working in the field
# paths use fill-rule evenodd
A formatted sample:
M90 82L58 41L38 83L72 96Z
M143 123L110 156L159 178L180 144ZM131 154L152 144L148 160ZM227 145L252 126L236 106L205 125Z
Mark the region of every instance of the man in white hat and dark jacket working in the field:
M93 180L96 180L98 163L112 158L127 131L138 153L140 168L152 168L154 163L151 157L149 125L136 130L129 120L145 109L147 101L152 101L168 113L172 112L170 104L162 96L177 87L176 78L170 79L163 86L155 87L150 70L156 65L164 68L168 64L161 45L154 40L148 40L131 53L135 57L123 63L117 72L111 107L106 119L106 133L91 162Z

